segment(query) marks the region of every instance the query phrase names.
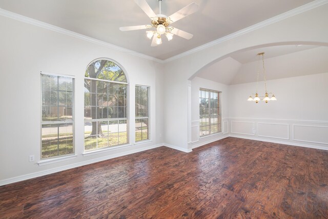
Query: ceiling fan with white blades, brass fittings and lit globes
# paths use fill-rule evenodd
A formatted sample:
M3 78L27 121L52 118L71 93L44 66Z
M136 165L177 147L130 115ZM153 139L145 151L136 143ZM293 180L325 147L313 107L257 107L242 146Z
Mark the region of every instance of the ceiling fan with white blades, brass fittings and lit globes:
M198 10L198 5L196 3L193 2L187 5L186 7L180 9L179 11L175 12L171 16L166 16L164 14L161 14L162 0L158 0L159 14L155 14L155 12L147 4L146 0L134 0L134 1L150 17L151 25L120 27L119 29L121 31L156 28L156 30L146 31L147 37L150 39L153 38L151 44L152 46L157 46L162 44L162 39L161 39L162 34L165 34L169 41L173 38L173 35L177 35L185 39L191 39L193 37L193 34L179 30L175 27L171 27L170 25L173 22L176 22L179 19L196 12Z

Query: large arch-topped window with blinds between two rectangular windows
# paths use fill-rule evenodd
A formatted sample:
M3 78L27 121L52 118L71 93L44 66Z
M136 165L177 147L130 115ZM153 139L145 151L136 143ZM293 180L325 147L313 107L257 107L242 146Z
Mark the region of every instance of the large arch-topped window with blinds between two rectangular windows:
M100 72L98 72L95 77L90 77L90 75L87 75L87 70L90 65L98 62L98 61L107 61L115 64L125 75L126 82L119 82L119 81L111 81L110 79L99 79L98 75ZM127 145L129 143L129 130L128 130L128 118L129 118L129 95L128 95L128 89L129 89L129 78L126 73L126 70L118 64L116 61L110 58L97 58L94 59L92 62L89 63L89 65L86 68L85 71L85 104L84 104L84 115L85 115L85 152L89 151L97 151L97 150L103 150L108 148L116 148L121 147L124 145ZM96 91L88 90L86 88L86 83L93 82L96 84ZM107 96L107 114L103 113L104 108L104 101L101 101L99 103L99 93L98 93L98 86L99 84L104 85L104 87L107 87L107 93L104 93L104 91L101 91L100 96L103 95ZM115 89L117 87L117 89ZM89 91L89 103L88 102L88 93ZM116 92L117 93L117 106L110 106L110 98L113 98L110 92ZM120 95L119 92L124 92L124 94ZM96 103L91 103L91 97L92 95L96 95ZM119 98L124 99L124 106L119 106L120 101ZM111 99L112 100L112 99ZM89 108L89 109L88 109ZM111 110L110 110L111 109ZM124 112L119 111L119 109L123 109ZM88 115L89 112L89 115ZM101 114L99 114L101 112ZM111 113L117 113L116 116L112 117ZM92 114L92 115L91 115ZM124 116L122 116L124 115ZM91 117L90 117L91 116ZM114 128L116 126L116 128ZM106 128L107 127L107 128ZM90 130L91 129L91 130ZM100 130L99 130L100 129ZM100 132L99 132L100 131ZM107 138L107 140L106 140Z

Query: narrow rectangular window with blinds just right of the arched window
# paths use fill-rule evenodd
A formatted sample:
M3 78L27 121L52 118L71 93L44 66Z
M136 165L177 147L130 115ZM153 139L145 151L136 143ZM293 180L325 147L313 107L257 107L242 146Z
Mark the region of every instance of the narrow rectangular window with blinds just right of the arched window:
M135 141L149 139L149 90L147 86L135 86Z

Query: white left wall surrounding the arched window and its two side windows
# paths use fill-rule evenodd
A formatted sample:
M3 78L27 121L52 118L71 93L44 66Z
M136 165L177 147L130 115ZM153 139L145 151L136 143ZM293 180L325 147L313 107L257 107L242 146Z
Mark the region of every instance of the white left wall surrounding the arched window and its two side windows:
M110 157L161 146L163 143L162 64L0 16L0 185ZM119 63L130 80L131 146L83 156L84 73L96 58ZM75 152L72 160L38 166L40 160L40 71L75 76ZM151 142L134 145L134 85L151 87ZM159 145L158 145L159 144ZM35 162L29 162L35 155Z

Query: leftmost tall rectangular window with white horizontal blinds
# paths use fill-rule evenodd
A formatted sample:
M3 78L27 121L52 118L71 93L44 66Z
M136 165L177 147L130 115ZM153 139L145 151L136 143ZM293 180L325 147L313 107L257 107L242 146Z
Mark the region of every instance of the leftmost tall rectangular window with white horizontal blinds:
M74 154L74 78L41 73L41 159Z

